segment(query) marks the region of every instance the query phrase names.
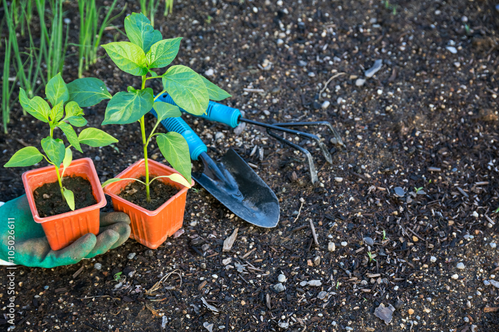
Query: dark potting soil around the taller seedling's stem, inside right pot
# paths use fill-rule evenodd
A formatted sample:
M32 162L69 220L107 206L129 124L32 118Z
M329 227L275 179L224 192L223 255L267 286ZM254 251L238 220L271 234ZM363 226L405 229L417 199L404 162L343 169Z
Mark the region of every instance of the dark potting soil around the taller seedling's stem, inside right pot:
M154 177L155 175L149 175L149 179L153 179ZM145 182L146 178L143 176L139 180ZM123 188L118 196L144 209L154 211L178 192L179 189L177 187L163 183L160 180L155 180L149 186L151 202L147 203L146 186L138 181L134 181Z

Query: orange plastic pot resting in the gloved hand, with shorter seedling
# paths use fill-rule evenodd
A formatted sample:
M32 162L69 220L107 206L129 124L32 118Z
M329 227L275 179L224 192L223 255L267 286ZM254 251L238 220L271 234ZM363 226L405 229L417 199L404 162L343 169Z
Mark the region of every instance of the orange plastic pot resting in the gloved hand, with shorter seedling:
M22 174L22 183L26 191L29 209L34 221L41 224L52 250L62 249L87 233L97 235L99 233L100 208L106 205L106 198L100 186L92 159L73 160L64 172L64 177L66 176L81 176L88 180L92 185L92 194L97 204L60 215L41 218L34 204L33 191L45 183L57 181L54 166L42 167Z

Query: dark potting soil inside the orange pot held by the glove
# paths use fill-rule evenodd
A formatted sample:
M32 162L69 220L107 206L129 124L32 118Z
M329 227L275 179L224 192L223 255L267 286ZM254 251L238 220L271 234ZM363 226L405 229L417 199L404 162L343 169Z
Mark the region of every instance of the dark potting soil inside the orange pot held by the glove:
M97 204L92 194L92 185L88 180L80 177L65 176L62 185L74 194L74 210ZM40 217L50 217L71 211L62 195L57 181L45 183L33 191L34 203Z

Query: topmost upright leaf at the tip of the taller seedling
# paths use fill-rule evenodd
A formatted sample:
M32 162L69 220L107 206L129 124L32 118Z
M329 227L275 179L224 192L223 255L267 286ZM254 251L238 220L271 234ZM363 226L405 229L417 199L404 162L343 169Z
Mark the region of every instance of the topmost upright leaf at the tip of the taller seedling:
M154 30L151 21L143 13L133 12L125 18L125 31L128 39L138 45L144 53L151 46L163 39L161 32Z

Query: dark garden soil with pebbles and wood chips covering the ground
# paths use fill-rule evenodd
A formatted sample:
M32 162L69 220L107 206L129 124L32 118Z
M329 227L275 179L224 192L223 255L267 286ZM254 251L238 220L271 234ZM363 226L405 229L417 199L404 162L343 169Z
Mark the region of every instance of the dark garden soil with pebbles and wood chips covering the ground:
M232 147L253 165L280 201L279 224L253 227L196 186L185 233L158 249L129 240L72 266L18 267L14 331L498 331L497 1L386 2L176 0L174 16L158 14L164 37L184 37L174 64L230 92L225 104L270 123L330 121L347 151L325 128L307 130L324 138L332 164L295 141L312 153L314 187L303 155L262 128L187 116L214 159ZM76 4L65 9L77 40ZM124 40L115 32L103 43ZM68 48L66 82L76 53ZM85 75L112 94L139 84L107 57ZM90 126L101 127L105 107L85 109ZM1 163L46 134L18 104L11 114ZM138 123L102 128L119 137L114 148L74 153L91 157L104 181L141 158L141 141ZM154 142L150 154L163 160ZM25 170L2 171L2 200L22 195ZM6 287L6 272L0 280ZM380 304L396 308L388 325Z

